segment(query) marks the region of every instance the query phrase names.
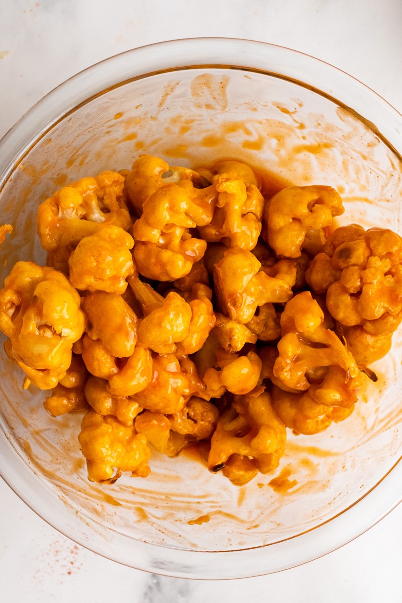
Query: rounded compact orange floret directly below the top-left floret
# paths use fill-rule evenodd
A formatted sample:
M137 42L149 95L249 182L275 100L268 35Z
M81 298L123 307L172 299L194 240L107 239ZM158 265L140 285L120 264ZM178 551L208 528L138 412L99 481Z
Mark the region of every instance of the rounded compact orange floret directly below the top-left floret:
M118 226L103 226L78 243L69 257L70 281L77 289L124 293L134 274L134 240Z

